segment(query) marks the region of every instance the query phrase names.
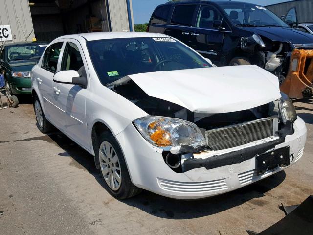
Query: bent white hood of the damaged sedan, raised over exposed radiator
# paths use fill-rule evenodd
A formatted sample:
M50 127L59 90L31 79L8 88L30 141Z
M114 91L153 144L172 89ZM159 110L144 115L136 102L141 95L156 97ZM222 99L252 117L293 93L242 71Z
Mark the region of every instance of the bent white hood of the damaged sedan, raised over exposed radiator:
M196 113L246 110L281 97L277 77L255 65L139 73L120 80L130 79L149 96Z

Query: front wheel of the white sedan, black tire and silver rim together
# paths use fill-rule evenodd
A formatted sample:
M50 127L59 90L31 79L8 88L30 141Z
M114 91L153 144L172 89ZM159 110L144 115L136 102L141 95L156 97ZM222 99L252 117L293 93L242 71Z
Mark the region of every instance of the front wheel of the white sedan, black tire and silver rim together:
M104 180L104 188L115 198L127 199L138 194L141 189L133 185L128 173L123 152L109 132L103 132L98 138L96 159Z

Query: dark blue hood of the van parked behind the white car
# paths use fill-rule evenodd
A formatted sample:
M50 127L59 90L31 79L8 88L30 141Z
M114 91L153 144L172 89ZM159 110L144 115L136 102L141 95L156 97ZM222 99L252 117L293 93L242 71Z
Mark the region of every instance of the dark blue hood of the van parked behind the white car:
M247 31L257 33L272 41L291 43L313 43L313 35L293 28L284 27L254 27L244 28Z

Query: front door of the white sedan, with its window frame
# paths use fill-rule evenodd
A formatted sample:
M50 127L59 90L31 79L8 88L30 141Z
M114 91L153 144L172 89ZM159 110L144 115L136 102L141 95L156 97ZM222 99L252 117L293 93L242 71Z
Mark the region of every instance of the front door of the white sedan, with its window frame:
M63 50L60 71L75 70L89 81L87 62L81 45L75 39L67 39ZM64 111L64 131L87 149L90 149L86 123L86 97L89 87L53 82L53 102Z

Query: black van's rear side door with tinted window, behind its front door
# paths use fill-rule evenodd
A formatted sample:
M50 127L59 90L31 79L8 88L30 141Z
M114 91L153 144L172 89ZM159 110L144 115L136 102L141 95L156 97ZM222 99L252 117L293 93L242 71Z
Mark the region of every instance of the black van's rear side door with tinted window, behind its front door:
M197 4L175 5L170 25L164 33L190 46L192 43L190 29L195 21L197 6Z

